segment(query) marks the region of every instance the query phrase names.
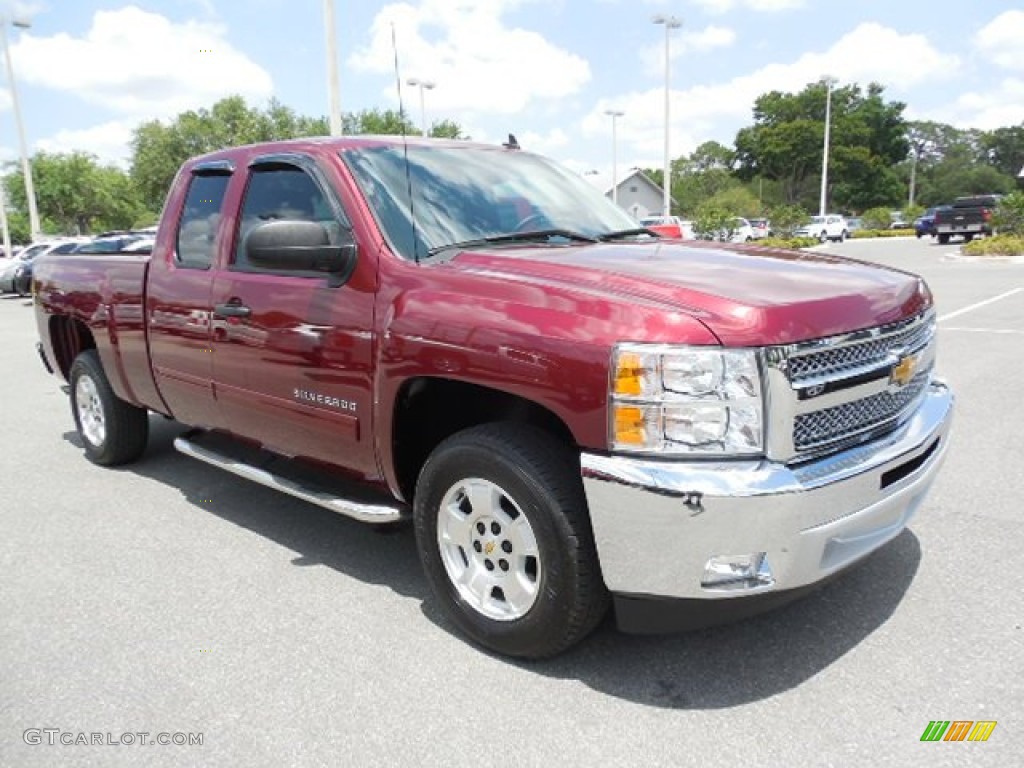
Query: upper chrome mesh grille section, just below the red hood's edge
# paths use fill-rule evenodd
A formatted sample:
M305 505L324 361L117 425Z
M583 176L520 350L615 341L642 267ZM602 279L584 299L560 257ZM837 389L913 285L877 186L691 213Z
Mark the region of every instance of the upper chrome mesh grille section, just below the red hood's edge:
M794 384L809 379L838 379L852 372L878 368L899 350L925 346L935 332L933 316L919 315L904 323L878 329L863 341L834 346L828 341L820 349L800 349L790 355L787 375Z

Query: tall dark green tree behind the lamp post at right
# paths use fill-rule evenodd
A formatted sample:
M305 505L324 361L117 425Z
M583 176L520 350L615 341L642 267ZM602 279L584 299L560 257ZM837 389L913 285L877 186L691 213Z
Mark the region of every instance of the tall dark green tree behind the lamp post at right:
M884 88L849 85L833 90L831 157L828 197L831 208L896 203L899 175L907 157L904 104L886 101ZM772 91L754 106L754 125L736 134L737 174L781 182L786 203L815 205L824 144L826 90L812 83L800 93Z

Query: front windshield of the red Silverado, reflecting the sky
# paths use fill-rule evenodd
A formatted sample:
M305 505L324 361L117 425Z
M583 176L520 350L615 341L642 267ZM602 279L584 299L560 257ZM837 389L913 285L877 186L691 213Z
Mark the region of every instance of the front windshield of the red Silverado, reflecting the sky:
M637 225L582 177L537 155L471 145L408 152L408 179L401 146L341 154L381 229L408 259L515 232L562 229L597 237Z

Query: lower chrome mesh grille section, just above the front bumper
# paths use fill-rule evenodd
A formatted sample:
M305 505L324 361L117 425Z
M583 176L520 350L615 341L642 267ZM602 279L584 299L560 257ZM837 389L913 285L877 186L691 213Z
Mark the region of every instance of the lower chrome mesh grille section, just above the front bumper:
M895 422L925 391L931 370L922 371L895 392L879 392L842 406L802 414L794 420L793 443L799 452L840 442Z

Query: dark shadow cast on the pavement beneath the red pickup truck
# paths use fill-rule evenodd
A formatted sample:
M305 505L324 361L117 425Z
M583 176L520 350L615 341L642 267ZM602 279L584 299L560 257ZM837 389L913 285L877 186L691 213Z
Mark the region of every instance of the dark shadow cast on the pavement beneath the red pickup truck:
M429 595L411 526L384 536L184 457L172 444L182 431L177 423L151 417L144 456L116 471L179 489L196 507L299 553L295 565L326 565L419 600L426 618L464 641ZM63 436L81 447L76 432ZM216 504L207 503L210 499ZM821 590L760 616L687 634L636 636L618 632L609 615L593 635L556 658L494 658L648 707L736 707L795 688L855 648L893 614L920 563L920 543L904 530ZM466 652L473 652L468 644Z

